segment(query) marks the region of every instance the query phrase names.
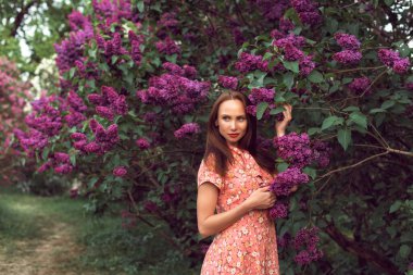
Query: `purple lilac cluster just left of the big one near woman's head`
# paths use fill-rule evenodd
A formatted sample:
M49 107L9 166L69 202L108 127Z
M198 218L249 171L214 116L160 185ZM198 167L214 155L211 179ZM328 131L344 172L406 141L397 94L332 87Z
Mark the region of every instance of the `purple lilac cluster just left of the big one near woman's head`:
M96 112L99 116L113 121L115 114L125 115L128 111L126 98L118 95L113 87L102 86L101 93L90 93L87 96L90 103L96 104Z

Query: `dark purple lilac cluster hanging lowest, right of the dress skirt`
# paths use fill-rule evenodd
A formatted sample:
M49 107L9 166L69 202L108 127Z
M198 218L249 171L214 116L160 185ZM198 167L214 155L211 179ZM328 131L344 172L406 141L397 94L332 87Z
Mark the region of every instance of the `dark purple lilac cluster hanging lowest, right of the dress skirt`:
M295 261L299 265L306 265L311 262L317 261L323 258L323 251L317 249L316 245L320 241L317 236L318 228L312 227L310 229L301 228L293 239L293 247L299 250L304 247L296 257Z

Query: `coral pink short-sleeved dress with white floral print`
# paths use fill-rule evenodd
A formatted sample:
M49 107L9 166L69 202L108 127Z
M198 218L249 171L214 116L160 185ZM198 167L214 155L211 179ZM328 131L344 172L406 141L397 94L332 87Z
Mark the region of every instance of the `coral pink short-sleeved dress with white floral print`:
M202 160L198 187L212 183L220 189L216 212L228 211L245 201L259 187L271 184L273 176L262 170L246 150L230 147L235 163L225 177ZM277 275L279 274L275 224L268 210L252 210L218 233L203 260L201 275Z

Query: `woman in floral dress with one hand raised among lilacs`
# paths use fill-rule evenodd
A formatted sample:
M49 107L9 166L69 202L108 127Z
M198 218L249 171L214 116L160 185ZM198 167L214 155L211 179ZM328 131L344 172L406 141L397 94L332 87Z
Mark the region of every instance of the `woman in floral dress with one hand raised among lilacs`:
M275 225L268 208L274 159L258 152L256 118L246 112L241 92L223 92L212 107L206 150L198 172L197 217L202 237L215 235L201 275L279 274ZM277 122L283 136L291 121L286 104ZM215 214L216 208L216 214Z

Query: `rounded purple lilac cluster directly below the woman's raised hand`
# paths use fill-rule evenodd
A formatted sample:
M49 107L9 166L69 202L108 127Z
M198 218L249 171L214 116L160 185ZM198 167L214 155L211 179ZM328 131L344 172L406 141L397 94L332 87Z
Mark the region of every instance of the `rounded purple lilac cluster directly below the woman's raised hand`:
M278 157L291 164L291 167L302 168L311 162L312 150L309 135L303 133L290 133L283 137L274 138L274 147Z

